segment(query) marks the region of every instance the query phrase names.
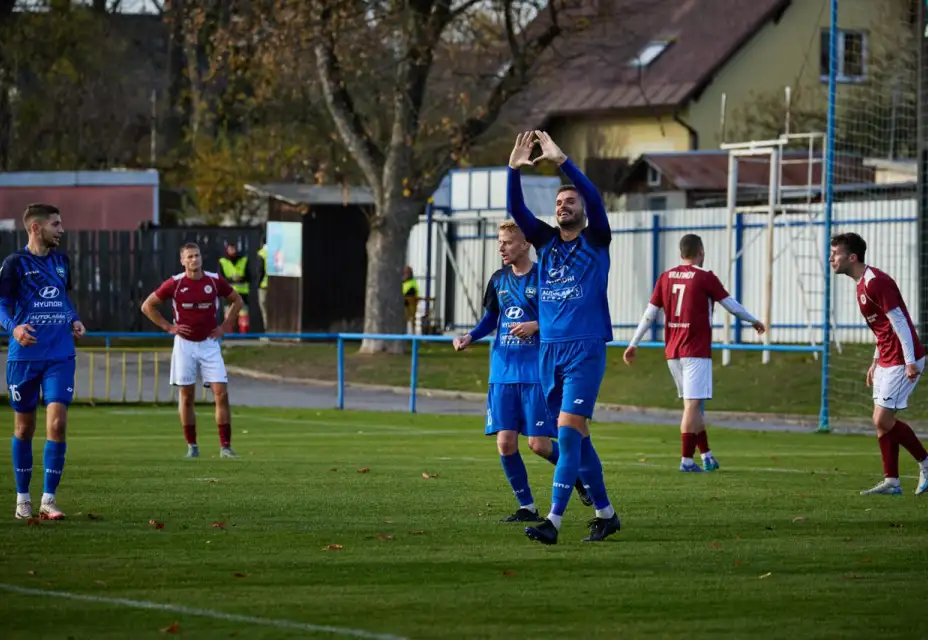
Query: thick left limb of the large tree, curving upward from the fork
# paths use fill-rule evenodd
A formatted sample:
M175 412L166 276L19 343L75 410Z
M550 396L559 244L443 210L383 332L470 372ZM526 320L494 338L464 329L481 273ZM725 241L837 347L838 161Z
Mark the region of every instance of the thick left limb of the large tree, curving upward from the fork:
M361 116L354 105L335 54L335 29L331 24L332 5L324 1L320 19L316 22L316 71L322 85L322 93L335 126L348 151L354 156L358 167L370 185L374 199L383 200L381 176L384 168L383 152L371 139Z

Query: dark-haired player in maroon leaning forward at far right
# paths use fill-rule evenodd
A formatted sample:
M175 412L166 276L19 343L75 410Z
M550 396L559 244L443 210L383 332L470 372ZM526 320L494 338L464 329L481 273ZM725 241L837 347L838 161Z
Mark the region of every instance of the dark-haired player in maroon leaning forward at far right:
M925 348L896 282L864 262L866 253L867 243L856 233L840 233L831 239L831 268L857 283L857 306L876 336L876 351L866 380L867 386L873 387L873 425L883 457L884 478L861 494L902 493L901 445L918 462L915 495L921 495L928 492L928 452L912 428L896 418L896 412L908 406L909 396L925 370Z

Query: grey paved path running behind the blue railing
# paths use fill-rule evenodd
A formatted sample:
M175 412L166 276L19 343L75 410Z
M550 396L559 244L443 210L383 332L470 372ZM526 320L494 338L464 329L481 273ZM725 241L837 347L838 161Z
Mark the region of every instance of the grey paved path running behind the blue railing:
M129 402L157 400L168 401L172 390L168 384L170 361L168 353L126 355L125 372L123 356L113 353L109 362L110 389L106 395L107 363L103 353L93 358L93 375L89 355L82 353L78 359L77 397L87 399L91 395L93 381L93 399L119 401L125 397ZM0 363L5 367L6 354L0 355ZM156 375L157 367L157 375ZM141 372L141 375L139 375ZM229 391L233 406L251 407L292 407L308 409L332 409L336 407L337 395L334 385L324 383L307 383L272 379L270 376L254 377L244 370L230 368ZM141 378L141 395L139 379ZM419 413L456 414L482 416L485 411L484 398L478 394L454 394L449 392L430 393L420 391L417 396L416 409ZM390 390L383 387L367 385L349 385L345 390L345 408L370 411L409 410L408 390ZM792 431L811 432L817 426L817 420L809 418L787 418L777 416L752 416L720 414L710 412L712 426L754 431ZM604 422L625 422L633 424L679 424L679 413L667 410L638 410L634 408L598 408L596 419ZM866 423L842 424L834 426L835 432L870 433Z

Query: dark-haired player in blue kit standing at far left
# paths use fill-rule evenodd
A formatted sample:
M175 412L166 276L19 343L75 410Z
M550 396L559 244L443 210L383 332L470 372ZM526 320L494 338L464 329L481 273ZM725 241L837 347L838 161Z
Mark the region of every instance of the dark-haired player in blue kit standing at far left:
M0 324L10 332L6 383L13 407L13 474L16 517L32 517L32 437L39 391L45 414L45 492L39 508L43 520L61 520L64 513L55 492L64 470L68 406L74 396L74 338L84 325L67 292L71 289L68 257L55 249L64 228L56 207L33 204L23 225L29 233L25 249L10 254L0 266Z

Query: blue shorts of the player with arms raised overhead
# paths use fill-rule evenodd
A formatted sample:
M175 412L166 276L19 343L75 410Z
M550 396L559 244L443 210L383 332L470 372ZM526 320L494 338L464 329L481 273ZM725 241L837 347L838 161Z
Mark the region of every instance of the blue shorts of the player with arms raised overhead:
M606 343L599 338L542 342L539 356L548 412L592 418L606 373Z

